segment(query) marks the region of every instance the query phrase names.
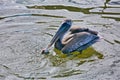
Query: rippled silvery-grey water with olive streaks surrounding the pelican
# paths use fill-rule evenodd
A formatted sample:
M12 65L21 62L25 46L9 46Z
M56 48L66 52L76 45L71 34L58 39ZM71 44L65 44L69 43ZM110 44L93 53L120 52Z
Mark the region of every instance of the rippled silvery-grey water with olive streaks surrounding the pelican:
M103 39L82 54L41 55L66 18ZM0 80L120 80L119 34L119 0L1 0Z

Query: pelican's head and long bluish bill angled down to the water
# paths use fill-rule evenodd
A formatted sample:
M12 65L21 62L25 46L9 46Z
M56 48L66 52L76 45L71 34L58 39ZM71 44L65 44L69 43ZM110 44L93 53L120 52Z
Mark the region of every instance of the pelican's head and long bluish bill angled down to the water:
M50 44L48 45L48 48L51 47L53 43L55 43L58 39L61 39L64 36L64 34L70 29L71 25L72 20L70 19L65 20L58 29L58 31L56 32L56 34L54 35L54 37L52 38Z

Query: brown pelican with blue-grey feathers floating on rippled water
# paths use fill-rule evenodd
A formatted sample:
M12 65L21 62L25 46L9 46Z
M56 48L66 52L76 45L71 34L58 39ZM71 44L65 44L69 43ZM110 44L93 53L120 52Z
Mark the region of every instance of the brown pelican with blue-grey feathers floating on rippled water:
M64 54L74 51L82 52L100 39L96 31L80 27L71 28L71 26L72 20L65 20L42 53L48 53L48 49L53 44L55 48L61 50ZM66 33L69 34L65 37Z

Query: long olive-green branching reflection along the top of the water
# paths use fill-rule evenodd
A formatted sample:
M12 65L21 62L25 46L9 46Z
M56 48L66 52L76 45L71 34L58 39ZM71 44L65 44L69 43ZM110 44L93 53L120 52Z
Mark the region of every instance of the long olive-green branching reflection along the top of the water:
M107 14L107 15L103 15L103 18L112 18L115 19L117 21L120 20L120 16L119 16L119 7L108 7L107 4L110 2L110 0L106 0L106 2L104 3L104 6L100 7L101 10L98 12L95 12L94 9L96 10L97 8L78 8L78 7L73 7L73 6L63 6L63 5L47 5L47 6L27 6L30 9L45 9L45 10L62 10L62 9L66 9L68 11L73 11L73 12L82 12L84 14ZM113 8L113 10L111 11L111 8ZM98 8L99 9L99 8ZM116 11L117 10L117 11ZM113 12L115 11L115 12ZM117 13L116 13L117 12ZM108 14L112 14L112 15L108 15ZM114 15L118 15L119 17L115 17ZM56 16L52 16L52 17L56 17ZM61 16L57 16L58 18L64 18Z

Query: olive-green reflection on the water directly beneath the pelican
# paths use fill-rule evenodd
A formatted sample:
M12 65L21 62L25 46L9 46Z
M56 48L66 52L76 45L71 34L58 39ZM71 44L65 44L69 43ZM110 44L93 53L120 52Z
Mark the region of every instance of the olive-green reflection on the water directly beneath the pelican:
M69 61L69 60L79 60L77 63L78 66L82 65L85 62L93 62L96 59L90 59L97 57L97 59L103 59L104 56L102 53L97 52L94 48L89 47L86 50L83 50L82 53L75 51L70 53L70 55L63 54L60 50L54 48L54 52L56 53L55 56L50 55L49 59L52 63L52 66L60 66L61 64ZM87 60L86 60L87 59Z

